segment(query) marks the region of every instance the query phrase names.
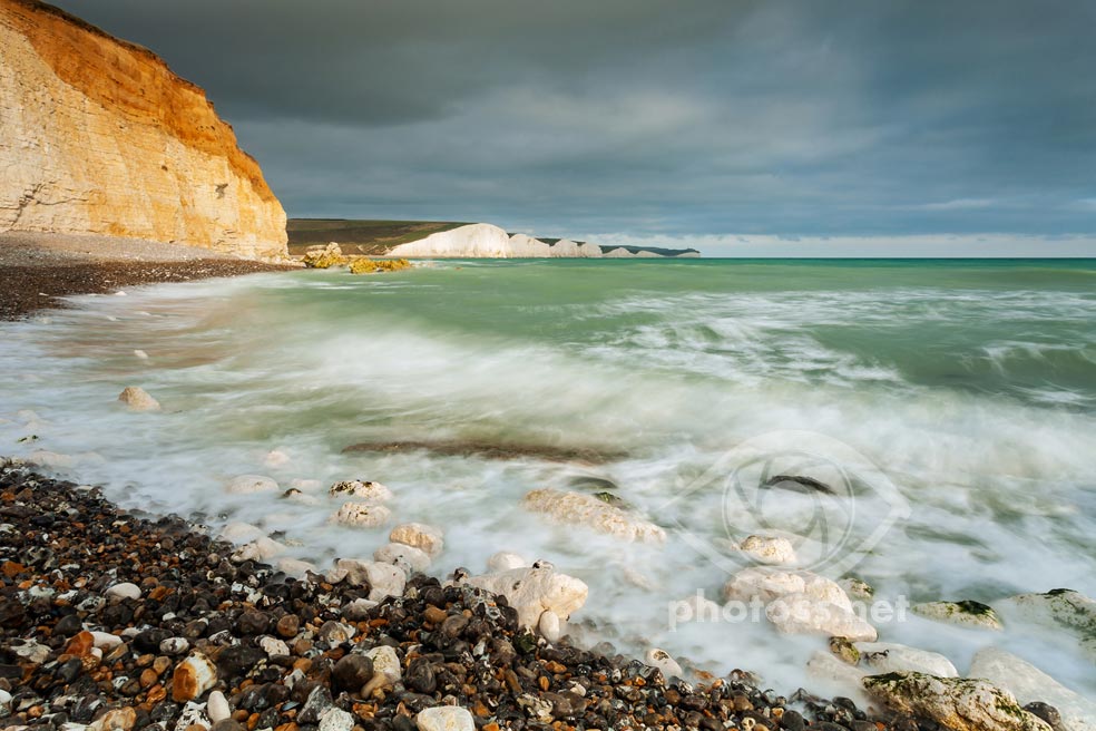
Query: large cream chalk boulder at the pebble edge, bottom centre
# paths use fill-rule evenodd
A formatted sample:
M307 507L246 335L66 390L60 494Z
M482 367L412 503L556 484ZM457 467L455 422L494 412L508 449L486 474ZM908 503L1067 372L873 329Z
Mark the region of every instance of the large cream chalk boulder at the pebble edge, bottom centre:
M568 618L586 603L589 587L574 576L558 574L550 567L513 568L500 574L473 576L468 583L492 594L501 594L518 613L518 623L537 627L540 615L555 612Z

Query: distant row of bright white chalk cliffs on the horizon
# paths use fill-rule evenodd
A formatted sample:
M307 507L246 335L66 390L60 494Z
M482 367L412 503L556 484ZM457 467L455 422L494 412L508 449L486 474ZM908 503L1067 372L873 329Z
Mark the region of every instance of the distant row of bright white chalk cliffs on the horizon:
M560 238L554 244L527 236L510 235L489 223L473 223L449 231L439 231L425 238L400 244L388 252L389 256L404 259L600 259L601 247L593 243L577 243ZM683 253L679 256L695 256ZM662 254L639 251L633 254L626 248L614 248L604 256L618 259L662 257Z

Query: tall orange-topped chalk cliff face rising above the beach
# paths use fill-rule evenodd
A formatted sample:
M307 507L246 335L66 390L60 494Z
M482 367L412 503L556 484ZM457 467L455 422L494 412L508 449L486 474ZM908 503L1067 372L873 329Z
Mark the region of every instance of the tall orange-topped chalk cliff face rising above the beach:
M0 0L0 231L286 255L285 212L193 84L37 0Z

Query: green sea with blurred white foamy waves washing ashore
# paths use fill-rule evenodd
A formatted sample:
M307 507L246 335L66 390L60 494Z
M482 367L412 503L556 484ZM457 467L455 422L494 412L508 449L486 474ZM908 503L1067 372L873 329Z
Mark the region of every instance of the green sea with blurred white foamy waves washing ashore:
M1002 604L1096 596L1096 260L447 260L67 304L0 323L0 454L63 455L58 472L125 507L254 524L326 568L388 530L332 525L325 490L226 483L381 481L393 524L444 530L442 578L507 550L586 582L577 642L825 690L805 670L825 637L683 613L755 565L742 540L783 536L799 567L894 610L880 641L960 674L1002 647L1096 696L1092 637ZM121 408L127 386L162 411ZM344 451L394 442L414 446ZM555 523L522 504L541 488L666 539ZM1005 628L906 608L936 601Z

